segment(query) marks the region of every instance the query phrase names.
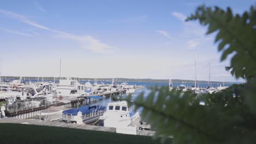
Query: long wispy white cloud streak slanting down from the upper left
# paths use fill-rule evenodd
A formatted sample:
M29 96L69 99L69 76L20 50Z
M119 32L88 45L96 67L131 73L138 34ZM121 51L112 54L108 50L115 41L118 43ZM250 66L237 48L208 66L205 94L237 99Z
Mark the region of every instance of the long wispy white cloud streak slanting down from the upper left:
M31 20L27 19L26 16L14 13L12 11L0 9L0 14L11 17L11 18L21 21L23 23L26 23L27 25L53 32L60 38L71 39L71 40L77 41L83 49L88 49L92 52L109 52L109 50L110 50L110 46L102 43L100 40L97 40L97 39L91 37L90 35L80 36L80 35L74 35L74 34L62 32L62 31L57 31L56 29L51 29L49 27L40 25L37 22L31 21Z

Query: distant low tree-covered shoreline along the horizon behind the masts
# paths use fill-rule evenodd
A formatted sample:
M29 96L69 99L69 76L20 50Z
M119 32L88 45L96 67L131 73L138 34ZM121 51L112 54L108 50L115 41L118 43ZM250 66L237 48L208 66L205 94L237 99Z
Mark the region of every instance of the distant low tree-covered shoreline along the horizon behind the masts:
M20 79L20 76L2 76L2 80L6 79ZM24 80L37 80L38 77L36 76L22 76L22 79ZM64 77L63 77L64 78ZM44 80L54 80L54 77L43 77ZM74 77L72 77L72 79L74 79ZM97 79L97 81L112 81L112 78L81 78L81 77L76 77L77 80L80 81L95 81L95 79ZM42 77L39 77L39 80L42 80ZM59 77L55 77L55 80L59 80ZM115 78L115 81L119 81L119 82L169 82L168 79L128 79L128 78ZM194 83L195 80L181 80L181 79L172 79L173 83ZM205 80L197 80L196 83L208 83L208 81ZM223 83L223 81L211 81L211 83ZM226 84L234 84L234 83L241 83L241 82L224 82Z

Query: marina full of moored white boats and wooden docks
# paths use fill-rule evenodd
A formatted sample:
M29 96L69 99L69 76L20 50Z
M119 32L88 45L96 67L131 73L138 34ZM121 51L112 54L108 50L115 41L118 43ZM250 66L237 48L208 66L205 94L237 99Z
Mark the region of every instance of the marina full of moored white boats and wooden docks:
M194 91L193 85L188 83L169 82L169 85L170 89ZM60 84L43 80L24 83L20 78L5 82L4 86L2 88L5 89L0 91L1 100L7 105L2 107L5 110L1 109L3 118L0 123L48 125L144 136L153 136L155 133L150 130L150 125L140 120L139 112L130 111L131 107L127 107L126 103L110 103L114 95L125 97L132 94L136 97L140 92L148 91L142 85L114 81L104 84L96 80L83 84L70 78L60 80ZM200 87L197 90L203 92L207 88Z

